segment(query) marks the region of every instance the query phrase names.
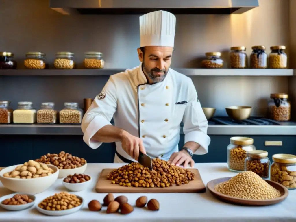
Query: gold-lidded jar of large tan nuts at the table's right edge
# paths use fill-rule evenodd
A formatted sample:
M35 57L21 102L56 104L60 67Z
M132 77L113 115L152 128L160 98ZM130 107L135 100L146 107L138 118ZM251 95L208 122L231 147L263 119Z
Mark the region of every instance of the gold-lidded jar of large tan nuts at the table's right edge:
M296 189L296 156L292 154L272 155L270 180L278 182L288 189Z

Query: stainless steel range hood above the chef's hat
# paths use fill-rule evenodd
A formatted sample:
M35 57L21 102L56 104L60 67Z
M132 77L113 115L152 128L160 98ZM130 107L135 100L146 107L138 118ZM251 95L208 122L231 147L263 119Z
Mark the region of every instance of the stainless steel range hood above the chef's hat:
M145 14L165 10L173 14L241 14L259 6L258 0L50 0L63 15Z

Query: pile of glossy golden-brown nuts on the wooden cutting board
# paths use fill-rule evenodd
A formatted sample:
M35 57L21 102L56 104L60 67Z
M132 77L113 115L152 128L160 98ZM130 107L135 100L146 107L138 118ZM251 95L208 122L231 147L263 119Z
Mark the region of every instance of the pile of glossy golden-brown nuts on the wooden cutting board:
M169 187L173 184L188 184L194 180L194 174L188 170L159 158L152 159L153 170L143 167L139 163L131 163L112 170L107 179L113 184L134 187Z

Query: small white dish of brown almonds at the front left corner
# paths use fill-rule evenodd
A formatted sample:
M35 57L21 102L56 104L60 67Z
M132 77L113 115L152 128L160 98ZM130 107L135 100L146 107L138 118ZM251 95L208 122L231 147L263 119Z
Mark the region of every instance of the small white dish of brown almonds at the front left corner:
M35 204L36 197L32 194L8 194L0 198L0 206L6 210L25 210Z

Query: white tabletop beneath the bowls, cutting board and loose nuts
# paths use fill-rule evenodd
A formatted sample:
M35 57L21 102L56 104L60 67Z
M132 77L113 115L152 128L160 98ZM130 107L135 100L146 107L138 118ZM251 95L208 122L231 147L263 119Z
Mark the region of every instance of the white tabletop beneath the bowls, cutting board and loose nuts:
M35 206L30 209L11 212L0 207L0 221L296 221L296 190L290 190L289 196L283 202L263 207L238 206L221 202L215 199L208 191L202 194L192 193L148 193L148 194L123 194L128 197L128 202L135 205L136 199L141 195L146 195L148 200L155 198L160 203L159 211L149 211L143 208L134 207L134 211L129 215L119 213L106 214L106 207L100 212L88 210L89 201L96 199L103 201L105 193L96 193L94 186L98 175L103 168L118 168L122 164L114 163L89 163L86 174L92 176L93 181L88 190L73 192L84 198L85 203L82 210L66 216L46 216L39 213ZM200 163L195 164L199 169L205 185L208 181L220 178L235 176L236 173L227 169L226 163ZM165 188L164 188L165 189ZM62 185L62 179L43 193L36 194L37 203L44 198L57 192L67 191ZM4 188L0 183L0 196L12 193ZM114 194L115 197L122 194ZM36 204L37 204L36 203Z

